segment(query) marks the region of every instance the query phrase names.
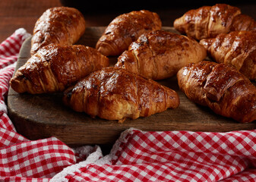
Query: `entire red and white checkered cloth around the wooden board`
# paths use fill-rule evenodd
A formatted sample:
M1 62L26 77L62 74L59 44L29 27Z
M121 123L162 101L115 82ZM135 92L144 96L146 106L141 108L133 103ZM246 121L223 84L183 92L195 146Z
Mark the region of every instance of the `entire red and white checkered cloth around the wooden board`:
M103 156L55 137L31 141L8 118L5 99L21 43L0 45L0 181L256 181L256 130L207 133L125 130Z

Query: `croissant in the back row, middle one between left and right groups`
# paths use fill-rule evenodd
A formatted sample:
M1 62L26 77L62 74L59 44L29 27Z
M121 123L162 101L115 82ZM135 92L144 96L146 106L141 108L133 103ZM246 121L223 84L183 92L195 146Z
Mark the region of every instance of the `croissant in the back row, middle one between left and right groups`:
M162 22L158 14L147 11L131 11L121 14L106 27L105 33L96 43L103 55L121 55L142 33L160 30Z

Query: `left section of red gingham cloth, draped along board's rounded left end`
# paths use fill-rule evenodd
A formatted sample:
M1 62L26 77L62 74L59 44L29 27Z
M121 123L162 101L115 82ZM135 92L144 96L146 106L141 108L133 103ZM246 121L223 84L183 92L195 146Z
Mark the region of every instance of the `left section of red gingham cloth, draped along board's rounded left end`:
M0 181L49 181L63 168L81 160L73 149L55 137L27 140L16 132L8 118L5 105L8 83L27 36L26 30L20 29L0 45Z

